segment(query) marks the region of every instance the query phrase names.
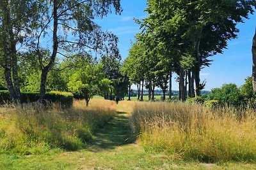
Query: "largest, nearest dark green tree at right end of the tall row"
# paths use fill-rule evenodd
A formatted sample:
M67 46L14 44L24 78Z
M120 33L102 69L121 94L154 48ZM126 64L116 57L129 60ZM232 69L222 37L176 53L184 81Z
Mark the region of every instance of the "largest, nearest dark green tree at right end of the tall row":
M148 17L137 22L143 27L142 32L150 36L152 44L156 42L155 48L157 44L164 45L165 50L159 53L172 59L180 81L183 82L180 71L186 69L180 64L182 58L192 56L195 59L193 69L188 70L192 71L189 89L193 89L195 80L195 96L200 96L204 87L204 82L200 82L200 70L209 66L209 57L227 47L229 39L237 37L237 23L253 13L255 3L253 0L148 0Z

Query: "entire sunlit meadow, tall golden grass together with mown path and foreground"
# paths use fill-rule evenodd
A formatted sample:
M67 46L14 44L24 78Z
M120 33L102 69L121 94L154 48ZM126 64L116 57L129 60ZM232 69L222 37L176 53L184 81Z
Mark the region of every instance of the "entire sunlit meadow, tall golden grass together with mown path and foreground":
M2 107L0 169L256 168L253 111L95 98L84 106Z

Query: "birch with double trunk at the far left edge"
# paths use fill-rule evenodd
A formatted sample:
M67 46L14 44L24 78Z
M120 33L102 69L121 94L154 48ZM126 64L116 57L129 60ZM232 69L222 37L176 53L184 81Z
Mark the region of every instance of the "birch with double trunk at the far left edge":
M0 63L10 96L20 102L20 81L18 74L17 46L24 47L35 36L35 29L44 1L3 0L0 1L0 48L3 56Z

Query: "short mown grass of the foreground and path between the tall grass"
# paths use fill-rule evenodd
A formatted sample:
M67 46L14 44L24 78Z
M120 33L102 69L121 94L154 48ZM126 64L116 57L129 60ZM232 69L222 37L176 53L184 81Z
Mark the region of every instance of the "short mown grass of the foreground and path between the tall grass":
M143 144L131 133L129 117L138 102L106 103L93 99L90 110L111 108L116 110L107 124L93 132L93 139L81 150L49 150L45 153L22 155L0 153L0 169L256 169L255 162L202 163L183 160L175 154L145 152ZM150 104L150 103L148 103ZM83 109L84 103L76 103ZM0 116L0 120L1 120Z

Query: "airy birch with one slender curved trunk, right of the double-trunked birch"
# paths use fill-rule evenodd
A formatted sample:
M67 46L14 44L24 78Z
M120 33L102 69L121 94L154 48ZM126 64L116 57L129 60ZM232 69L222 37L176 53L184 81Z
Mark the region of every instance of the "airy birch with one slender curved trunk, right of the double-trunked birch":
M90 50L91 52L107 53L120 57L117 41L118 38L109 32L100 29L93 20L95 17L104 17L115 8L120 13L119 0L84 1L68 0L48 1L44 17L40 20L41 27L34 46L40 63L40 101L44 103L47 74L56 62L56 56L67 57L66 53ZM47 36L45 36L47 35ZM72 35L72 36L71 36ZM42 54L45 43L42 39L51 39L51 55ZM66 53L65 53L66 52Z

